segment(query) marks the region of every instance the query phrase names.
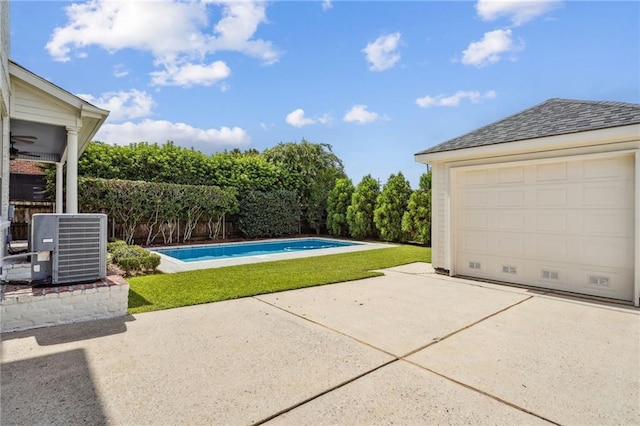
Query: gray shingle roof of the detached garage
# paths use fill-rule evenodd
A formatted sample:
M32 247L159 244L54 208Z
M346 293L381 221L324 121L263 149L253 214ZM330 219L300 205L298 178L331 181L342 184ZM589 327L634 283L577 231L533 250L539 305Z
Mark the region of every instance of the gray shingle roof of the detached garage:
M640 104L554 98L417 155L637 123L640 123Z

